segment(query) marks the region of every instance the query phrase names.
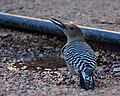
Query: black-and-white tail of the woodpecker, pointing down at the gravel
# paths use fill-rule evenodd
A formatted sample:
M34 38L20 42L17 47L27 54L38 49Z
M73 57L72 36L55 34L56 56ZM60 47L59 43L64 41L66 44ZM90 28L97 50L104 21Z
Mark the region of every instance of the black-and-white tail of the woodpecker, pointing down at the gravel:
M85 72L80 73L80 86L82 89L94 90L94 79L93 76L87 75Z

